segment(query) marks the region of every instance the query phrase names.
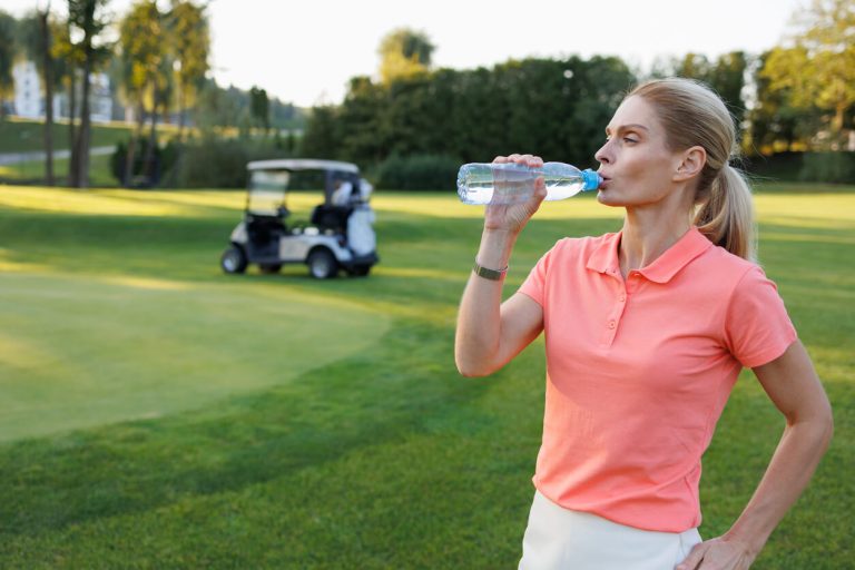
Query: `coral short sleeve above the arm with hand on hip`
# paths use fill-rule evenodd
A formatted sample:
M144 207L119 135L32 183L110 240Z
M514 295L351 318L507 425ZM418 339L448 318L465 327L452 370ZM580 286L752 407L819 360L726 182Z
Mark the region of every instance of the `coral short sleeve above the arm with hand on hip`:
M725 316L725 342L743 366L767 364L796 340L778 288L759 267L751 267L734 289Z

